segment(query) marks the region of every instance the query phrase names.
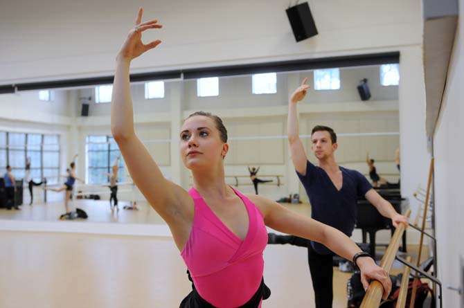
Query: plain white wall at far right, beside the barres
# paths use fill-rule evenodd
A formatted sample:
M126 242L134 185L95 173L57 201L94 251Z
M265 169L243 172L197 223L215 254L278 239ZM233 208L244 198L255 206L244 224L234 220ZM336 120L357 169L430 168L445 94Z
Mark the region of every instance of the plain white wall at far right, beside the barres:
M464 217L461 189L464 166L463 82L464 82L464 1L459 1L459 21L443 102L434 134L435 205L438 253L438 277L445 288L443 307L461 307L456 291L447 286L462 287L459 271L464 258Z

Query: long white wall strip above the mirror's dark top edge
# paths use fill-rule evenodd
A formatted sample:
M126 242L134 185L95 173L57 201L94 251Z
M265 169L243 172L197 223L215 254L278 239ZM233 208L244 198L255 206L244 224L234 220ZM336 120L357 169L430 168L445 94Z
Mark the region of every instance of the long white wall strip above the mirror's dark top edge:
M310 1L319 35L298 44L285 14L288 5L286 0L8 1L0 12L0 39L8 42L0 49L0 84L111 75L139 6L145 20L163 24L144 39L163 43L135 60L133 72L420 44L420 0Z

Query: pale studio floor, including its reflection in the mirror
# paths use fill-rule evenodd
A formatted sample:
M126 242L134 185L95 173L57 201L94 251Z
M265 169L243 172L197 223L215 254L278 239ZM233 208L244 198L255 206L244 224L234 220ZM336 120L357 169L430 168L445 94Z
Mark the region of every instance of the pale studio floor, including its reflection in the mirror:
M75 200L93 225L161 225L161 218L146 203L139 210L111 212L107 200ZM307 204L285 206L310 215ZM0 209L0 224L57 222L62 202L35 203L21 210ZM62 226L74 221L60 221ZM107 223L107 224L99 224ZM170 237L98 235L59 232L0 231L0 307L179 307L190 292L186 266ZM425 249L426 250L426 249ZM384 248L377 249L377 255ZM417 246L408 253L417 255ZM305 248L268 245L264 253L265 281L272 294L263 307L314 307L314 293ZM393 273L401 271L395 264ZM351 273L335 269L334 308L346 307L346 282Z

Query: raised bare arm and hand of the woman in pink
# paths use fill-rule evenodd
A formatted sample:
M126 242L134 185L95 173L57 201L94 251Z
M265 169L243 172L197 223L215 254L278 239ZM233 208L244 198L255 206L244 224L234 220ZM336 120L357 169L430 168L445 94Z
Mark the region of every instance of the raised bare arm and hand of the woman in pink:
M149 44L143 44L143 31L162 27L157 20L142 23L142 12L140 8L136 26L130 30L116 57L116 73L111 98L111 133L118 143L134 183L172 230L172 224L188 221L190 214L193 216L193 200L188 192L164 178L157 163L135 134L130 91L130 63L135 57L161 43L157 39Z

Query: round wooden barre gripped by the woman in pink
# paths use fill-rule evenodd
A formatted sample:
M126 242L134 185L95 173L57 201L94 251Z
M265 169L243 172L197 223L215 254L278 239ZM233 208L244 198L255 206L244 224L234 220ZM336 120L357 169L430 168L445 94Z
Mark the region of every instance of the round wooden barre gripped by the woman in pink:
M409 218L411 215L411 210L407 210L404 216ZM396 228L393 237L391 237L390 244L386 248L384 257L382 257L382 262L380 262L380 267L384 269L387 273L390 273L391 266L395 260L396 253L398 253L398 248L400 247L400 240L404 233L405 226L403 223L400 223ZM384 293L384 287L377 280L373 280L366 291L361 306L359 308L378 308L380 305L380 300L382 300L382 294Z

